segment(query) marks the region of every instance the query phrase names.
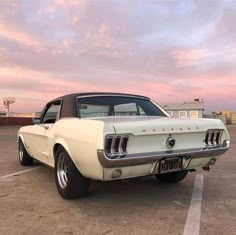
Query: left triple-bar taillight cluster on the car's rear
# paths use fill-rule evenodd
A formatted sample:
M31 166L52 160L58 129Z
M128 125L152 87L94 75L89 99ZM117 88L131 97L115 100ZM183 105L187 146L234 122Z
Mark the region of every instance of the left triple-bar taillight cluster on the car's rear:
M127 153L127 135L108 135L105 141L105 153L110 158L117 158Z

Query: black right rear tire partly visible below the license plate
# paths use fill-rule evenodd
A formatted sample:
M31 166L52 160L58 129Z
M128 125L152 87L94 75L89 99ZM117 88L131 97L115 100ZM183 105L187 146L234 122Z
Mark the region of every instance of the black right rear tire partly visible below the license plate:
M183 180L188 174L188 171L176 171L171 173L157 174L156 178L162 183L177 183Z

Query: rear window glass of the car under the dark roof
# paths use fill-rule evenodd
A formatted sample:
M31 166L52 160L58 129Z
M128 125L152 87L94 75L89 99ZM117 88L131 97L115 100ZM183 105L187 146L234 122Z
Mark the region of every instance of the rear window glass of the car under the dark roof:
M95 96L77 98L78 116L166 116L165 113L146 99L119 96Z

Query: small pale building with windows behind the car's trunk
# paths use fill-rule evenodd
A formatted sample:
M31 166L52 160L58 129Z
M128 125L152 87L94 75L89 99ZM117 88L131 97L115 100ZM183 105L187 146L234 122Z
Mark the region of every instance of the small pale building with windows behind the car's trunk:
M202 118L204 107L203 100L200 101L199 99L192 102L171 103L162 106L175 118Z

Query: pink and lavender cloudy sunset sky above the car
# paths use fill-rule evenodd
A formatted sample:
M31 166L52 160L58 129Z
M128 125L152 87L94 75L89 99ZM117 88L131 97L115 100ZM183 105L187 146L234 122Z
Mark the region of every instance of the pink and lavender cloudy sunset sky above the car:
M0 99L16 97L12 111L82 91L236 111L236 0L0 0L0 9Z

